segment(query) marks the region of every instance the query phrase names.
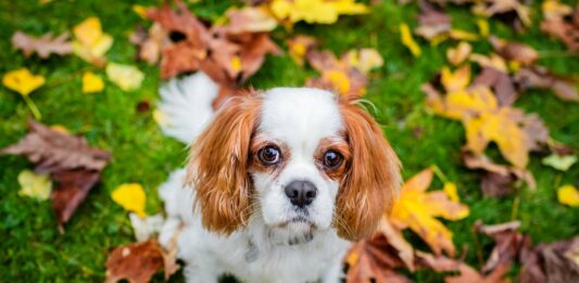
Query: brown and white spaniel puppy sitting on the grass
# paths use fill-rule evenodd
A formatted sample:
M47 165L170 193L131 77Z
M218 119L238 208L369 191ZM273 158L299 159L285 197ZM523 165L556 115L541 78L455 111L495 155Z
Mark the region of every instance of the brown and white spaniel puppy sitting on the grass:
M191 144L161 185L188 282L339 282L352 241L372 235L400 183L400 162L353 99L313 88L234 97L203 73L161 89L165 133Z

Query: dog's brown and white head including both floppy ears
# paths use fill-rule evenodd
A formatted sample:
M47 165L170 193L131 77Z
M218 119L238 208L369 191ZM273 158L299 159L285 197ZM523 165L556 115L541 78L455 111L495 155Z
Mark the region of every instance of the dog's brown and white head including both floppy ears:
M364 111L309 88L232 99L193 144L189 166L205 228L228 234L259 217L289 244L331 228L347 240L369 235L399 170Z

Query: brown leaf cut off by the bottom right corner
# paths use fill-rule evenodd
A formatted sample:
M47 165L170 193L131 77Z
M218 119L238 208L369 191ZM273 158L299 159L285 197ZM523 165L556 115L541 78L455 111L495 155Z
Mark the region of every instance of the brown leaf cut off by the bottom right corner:
M518 282L578 282L579 236L539 244L524 262Z

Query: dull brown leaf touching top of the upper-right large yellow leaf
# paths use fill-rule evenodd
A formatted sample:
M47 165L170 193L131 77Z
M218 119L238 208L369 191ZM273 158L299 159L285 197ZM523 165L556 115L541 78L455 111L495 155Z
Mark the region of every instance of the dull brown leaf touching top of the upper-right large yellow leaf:
M492 88L501 106L513 105L519 97L508 74L492 67L482 67L480 74L473 81L473 86L477 85Z

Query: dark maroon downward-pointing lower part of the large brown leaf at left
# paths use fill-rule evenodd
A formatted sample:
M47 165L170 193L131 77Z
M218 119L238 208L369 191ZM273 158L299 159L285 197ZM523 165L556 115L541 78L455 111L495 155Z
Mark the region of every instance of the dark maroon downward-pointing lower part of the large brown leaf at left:
M64 170L53 173L52 178L56 181L56 188L50 195L52 210L56 214L59 229L63 231L63 224L85 201L90 189L99 182L100 172L87 169Z

